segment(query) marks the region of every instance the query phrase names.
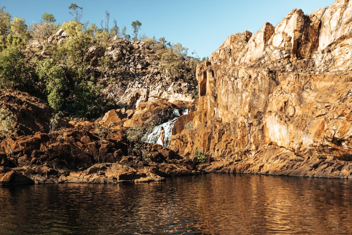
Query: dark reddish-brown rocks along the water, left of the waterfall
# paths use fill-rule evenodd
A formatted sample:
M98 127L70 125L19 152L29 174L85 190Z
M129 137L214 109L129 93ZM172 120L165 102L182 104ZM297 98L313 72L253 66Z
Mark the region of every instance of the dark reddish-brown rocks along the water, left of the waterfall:
M171 115L168 110L177 108L166 101L159 102L140 104L156 122ZM111 110L101 120L103 125L104 122L113 124L101 138L98 122L63 119L58 124L59 130L49 131L52 109L28 93L0 90L0 108L14 113L16 133L8 135L17 161L16 166L9 157L10 149L1 140L0 185L149 182L172 175L201 173L194 168L193 161L158 144L146 144L147 157L140 156L138 150L128 151L131 143L126 140L126 128L123 122L117 122L121 110ZM141 112L136 111L140 117ZM134 126L143 126L145 121L137 119L136 115L126 116L125 120L130 120Z

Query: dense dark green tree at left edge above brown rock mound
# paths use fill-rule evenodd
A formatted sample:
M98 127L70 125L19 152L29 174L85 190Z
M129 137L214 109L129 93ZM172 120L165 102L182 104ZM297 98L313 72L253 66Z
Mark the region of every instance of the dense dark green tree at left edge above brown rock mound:
M23 87L28 76L25 56L18 47L8 47L0 54L0 88Z

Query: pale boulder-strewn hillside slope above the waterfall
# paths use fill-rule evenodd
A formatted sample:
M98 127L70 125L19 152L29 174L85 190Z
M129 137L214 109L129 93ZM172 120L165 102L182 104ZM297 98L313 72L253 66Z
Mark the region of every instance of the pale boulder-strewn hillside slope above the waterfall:
M136 109L139 103L163 99L194 102L195 85L187 79L172 80L160 72L155 51L144 42L127 41L115 37L107 48L105 56L111 60L108 67L102 68L106 80L113 82L105 87L102 93L107 99L114 100L121 107ZM183 61L184 64L189 60ZM138 74L124 76L119 73ZM119 79L121 81L119 81Z

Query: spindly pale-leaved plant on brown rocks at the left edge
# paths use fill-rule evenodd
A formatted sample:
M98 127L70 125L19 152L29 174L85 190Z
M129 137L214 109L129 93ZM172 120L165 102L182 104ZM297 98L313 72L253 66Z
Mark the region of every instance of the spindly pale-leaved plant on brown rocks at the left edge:
M15 120L13 118L13 113L7 109L0 109L0 137L5 141L7 148L10 150L11 159L8 158L8 160L18 166L9 140L10 132L15 132L13 128L14 125Z

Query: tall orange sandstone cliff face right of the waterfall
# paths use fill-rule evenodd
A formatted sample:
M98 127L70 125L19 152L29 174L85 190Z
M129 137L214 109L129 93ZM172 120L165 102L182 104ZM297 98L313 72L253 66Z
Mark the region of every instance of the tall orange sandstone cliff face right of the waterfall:
M228 37L197 67L196 131L178 125L170 148L202 148L207 171L351 178L351 12L336 0Z

